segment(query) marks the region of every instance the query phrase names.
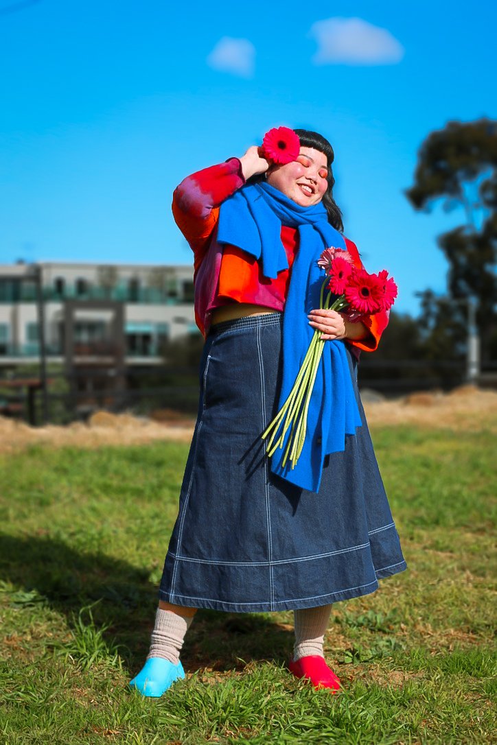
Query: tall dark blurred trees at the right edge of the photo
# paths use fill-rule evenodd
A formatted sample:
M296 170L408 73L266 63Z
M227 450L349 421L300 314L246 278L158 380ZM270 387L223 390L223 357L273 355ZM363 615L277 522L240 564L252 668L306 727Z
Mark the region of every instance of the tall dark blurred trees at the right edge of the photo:
M482 364L497 361L497 122L450 121L428 135L418 153L414 185L405 195L414 209L429 212L441 202L446 211L462 208L465 219L437 237L449 264L446 294L421 291L417 318L392 312L374 366L364 364L364 379L384 375L382 361L412 360L420 380L438 377L447 384L453 379L449 365L461 369L466 360L468 299L476 306ZM388 375L407 378L413 370L390 367Z

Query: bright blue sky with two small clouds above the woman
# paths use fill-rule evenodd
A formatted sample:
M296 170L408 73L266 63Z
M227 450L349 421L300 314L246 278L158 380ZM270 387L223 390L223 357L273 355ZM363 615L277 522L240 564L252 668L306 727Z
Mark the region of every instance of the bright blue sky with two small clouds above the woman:
M402 191L431 130L496 116L496 7L0 0L0 261L189 263L174 187L285 124L332 142L346 235L416 313L463 216Z

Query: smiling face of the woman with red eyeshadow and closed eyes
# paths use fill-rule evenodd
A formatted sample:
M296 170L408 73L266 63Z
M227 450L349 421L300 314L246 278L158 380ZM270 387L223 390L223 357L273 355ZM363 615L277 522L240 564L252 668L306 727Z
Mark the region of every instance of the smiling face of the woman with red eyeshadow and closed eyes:
M297 160L271 166L267 181L300 206L310 207L323 199L327 176L326 155L314 148L300 148Z

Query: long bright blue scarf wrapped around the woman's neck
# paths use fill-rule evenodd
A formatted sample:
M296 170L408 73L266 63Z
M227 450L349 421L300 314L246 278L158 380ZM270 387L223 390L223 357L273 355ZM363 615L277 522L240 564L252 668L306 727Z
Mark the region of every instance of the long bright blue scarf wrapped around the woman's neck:
M319 308L323 270L317 259L329 246L346 248L343 236L328 222L322 203L303 207L268 183L244 186L232 194L219 213L218 243L241 248L260 260L262 273L273 279L288 269L281 240L282 225L298 228L297 256L291 267L283 317L283 375L279 408L288 398L306 356L314 329L308 313ZM269 423L269 422L267 422ZM282 466L290 429L281 449L271 458L271 471L311 492L320 487L327 454L343 451L346 434L355 434L361 416L355 401L343 341L326 342L308 410L307 433L297 466Z

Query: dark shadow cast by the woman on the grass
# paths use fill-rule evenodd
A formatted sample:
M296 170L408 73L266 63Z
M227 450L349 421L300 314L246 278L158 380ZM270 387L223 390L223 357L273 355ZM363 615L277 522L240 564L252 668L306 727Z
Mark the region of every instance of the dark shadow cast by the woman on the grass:
M80 610L92 606L96 627L107 627L104 640L118 647L130 671L145 661L153 627L157 594L149 572L105 554L78 551L63 541L0 533L0 580L22 588L11 602L18 606L46 604L66 617L75 630ZM265 615L200 610L183 647L187 671L209 668L241 670L253 660L288 657L291 627Z

